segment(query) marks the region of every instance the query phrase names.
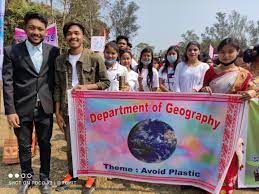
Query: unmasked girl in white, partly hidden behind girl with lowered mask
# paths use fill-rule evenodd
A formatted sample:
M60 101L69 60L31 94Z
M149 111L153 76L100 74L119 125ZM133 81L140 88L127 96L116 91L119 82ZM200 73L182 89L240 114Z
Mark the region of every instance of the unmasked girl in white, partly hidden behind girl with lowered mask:
M138 74L132 70L132 54L130 51L124 50L120 53L120 63L128 70L128 84L130 91L138 91Z

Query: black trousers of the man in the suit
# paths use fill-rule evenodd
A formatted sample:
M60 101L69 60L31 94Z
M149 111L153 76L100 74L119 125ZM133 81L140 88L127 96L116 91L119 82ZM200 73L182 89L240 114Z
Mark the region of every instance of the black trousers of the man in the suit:
M53 115L46 114L42 106L34 109L33 120L20 118L20 128L14 129L18 139L19 159L22 173L25 174L24 180L31 179L33 169L31 164L31 144L33 124L37 136L38 145L40 148L40 180L49 179L50 173L50 155L51 144L50 139L53 130Z

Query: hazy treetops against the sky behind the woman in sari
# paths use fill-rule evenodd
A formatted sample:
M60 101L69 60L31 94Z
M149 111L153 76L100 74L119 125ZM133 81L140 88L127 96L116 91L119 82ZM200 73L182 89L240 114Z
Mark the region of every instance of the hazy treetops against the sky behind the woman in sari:
M185 47L189 40L201 39L201 52L208 53L210 44L217 48L220 41L227 37L237 38L241 49L255 45L259 40L259 21L254 23L236 11L232 11L230 14L217 12L216 23L207 26L200 37L192 30L182 35L183 44L180 50L183 52L182 47Z

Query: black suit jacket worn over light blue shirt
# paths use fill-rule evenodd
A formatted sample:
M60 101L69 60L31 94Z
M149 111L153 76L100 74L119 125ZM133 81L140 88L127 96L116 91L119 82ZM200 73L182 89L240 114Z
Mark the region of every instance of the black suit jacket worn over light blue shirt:
M37 73L25 42L4 49L2 69L5 114L33 119L37 93L46 114L53 113L54 61L59 49L43 43L43 62Z

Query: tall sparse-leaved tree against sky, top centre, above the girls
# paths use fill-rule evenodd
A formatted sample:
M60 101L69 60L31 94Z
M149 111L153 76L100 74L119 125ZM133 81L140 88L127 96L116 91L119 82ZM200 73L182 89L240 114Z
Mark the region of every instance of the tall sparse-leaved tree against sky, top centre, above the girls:
M109 13L111 19L110 29L115 37L125 35L130 38L136 35L139 29L136 16L138 9L139 6L133 1L129 3L127 3L127 0L115 1Z

